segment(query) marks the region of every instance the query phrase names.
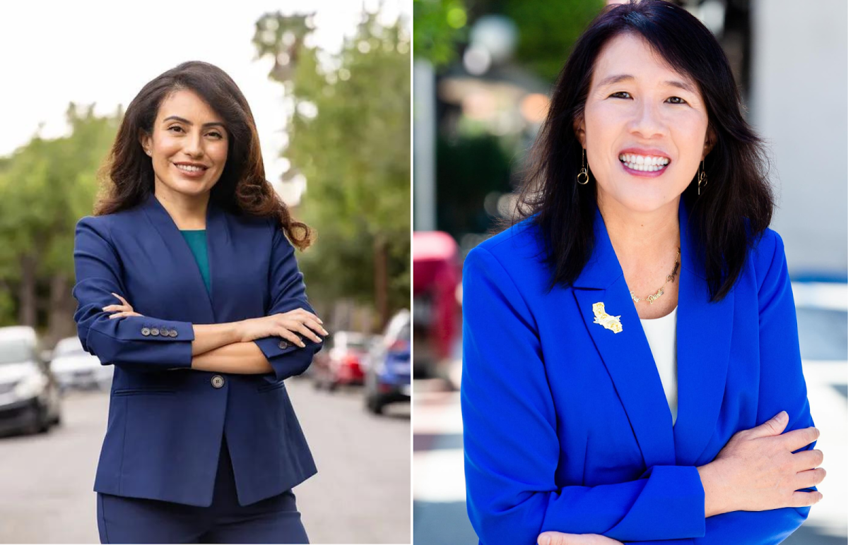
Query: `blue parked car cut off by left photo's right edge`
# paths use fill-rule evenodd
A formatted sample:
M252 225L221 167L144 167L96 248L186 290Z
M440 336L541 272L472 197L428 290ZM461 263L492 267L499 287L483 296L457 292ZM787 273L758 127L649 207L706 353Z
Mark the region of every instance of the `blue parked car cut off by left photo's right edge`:
M400 310L368 354L365 408L374 414L388 403L410 401L410 329L410 311Z

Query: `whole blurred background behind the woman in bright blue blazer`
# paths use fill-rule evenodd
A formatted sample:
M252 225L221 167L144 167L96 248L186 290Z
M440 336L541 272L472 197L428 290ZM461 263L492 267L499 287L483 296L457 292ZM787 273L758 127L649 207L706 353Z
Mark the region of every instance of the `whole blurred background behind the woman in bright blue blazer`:
M682 0L717 36L767 139L824 499L786 543L848 539L848 4ZM459 386L461 267L512 208L524 152L603 0L414 0L413 523L471 544Z

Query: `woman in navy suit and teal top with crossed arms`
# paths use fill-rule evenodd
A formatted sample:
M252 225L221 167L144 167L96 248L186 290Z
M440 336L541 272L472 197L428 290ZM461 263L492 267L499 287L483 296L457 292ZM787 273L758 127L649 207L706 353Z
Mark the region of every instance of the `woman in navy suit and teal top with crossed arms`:
M326 335L232 79L189 62L126 110L75 238L82 345L114 365L94 489L102 542L307 542L315 474L284 379Z

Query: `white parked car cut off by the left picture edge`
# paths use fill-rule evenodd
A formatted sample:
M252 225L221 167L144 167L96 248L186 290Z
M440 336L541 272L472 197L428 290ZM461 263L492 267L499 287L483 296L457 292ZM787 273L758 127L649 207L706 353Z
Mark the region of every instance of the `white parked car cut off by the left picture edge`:
M61 420L59 386L38 344L31 327L0 328L0 432L49 431Z

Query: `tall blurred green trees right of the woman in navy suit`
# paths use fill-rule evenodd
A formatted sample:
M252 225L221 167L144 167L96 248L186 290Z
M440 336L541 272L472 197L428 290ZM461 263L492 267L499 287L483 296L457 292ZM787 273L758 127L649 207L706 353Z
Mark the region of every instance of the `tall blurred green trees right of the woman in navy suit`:
M410 304L410 36L365 13L328 53L310 45L311 31L310 15L276 13L254 36L286 92L287 175L307 180L296 215L318 234L298 259L310 298L353 299L384 320Z

